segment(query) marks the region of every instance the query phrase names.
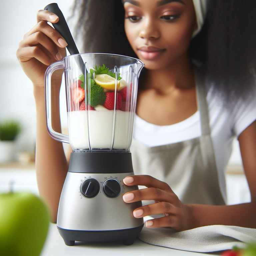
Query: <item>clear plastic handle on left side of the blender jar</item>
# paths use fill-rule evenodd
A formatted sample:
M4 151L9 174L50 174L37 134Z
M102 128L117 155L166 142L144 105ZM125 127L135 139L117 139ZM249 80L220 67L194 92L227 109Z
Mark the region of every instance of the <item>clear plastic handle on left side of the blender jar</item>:
M52 108L51 108L51 76L57 69L64 69L63 60L52 63L46 70L44 76L45 84L45 116L46 116L46 128L49 135L60 142L69 143L69 136L56 132L52 129Z

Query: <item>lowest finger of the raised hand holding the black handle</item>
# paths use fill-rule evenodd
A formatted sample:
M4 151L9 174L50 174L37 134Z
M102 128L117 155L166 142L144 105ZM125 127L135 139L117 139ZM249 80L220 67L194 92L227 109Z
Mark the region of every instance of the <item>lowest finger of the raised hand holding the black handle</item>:
M16 52L16 56L20 62L25 62L35 58L47 66L52 63L51 58L47 56L47 54L45 54L38 46L19 48Z

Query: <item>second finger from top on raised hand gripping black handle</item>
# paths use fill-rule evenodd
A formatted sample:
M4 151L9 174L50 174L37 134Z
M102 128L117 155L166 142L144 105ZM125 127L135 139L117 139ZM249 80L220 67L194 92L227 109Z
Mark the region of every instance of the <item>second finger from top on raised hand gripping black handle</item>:
M53 27L51 27L49 24L47 24L46 21L42 20L39 21L28 33L26 33L23 37L23 39L26 39L28 36L41 31L44 33L47 37L49 37L57 46L61 48L65 48L68 44L64 40L64 38L60 35L60 33L55 30Z

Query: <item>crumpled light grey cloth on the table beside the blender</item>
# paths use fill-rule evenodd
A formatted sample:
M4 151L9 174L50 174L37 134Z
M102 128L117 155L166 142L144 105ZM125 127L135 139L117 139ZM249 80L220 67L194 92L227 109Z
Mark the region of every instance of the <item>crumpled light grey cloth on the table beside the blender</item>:
M144 217L144 221L152 217ZM237 226L212 225L177 232L172 228L147 228L145 225L138 237L141 241L191 252L216 252L246 248L245 243L256 243L256 229Z

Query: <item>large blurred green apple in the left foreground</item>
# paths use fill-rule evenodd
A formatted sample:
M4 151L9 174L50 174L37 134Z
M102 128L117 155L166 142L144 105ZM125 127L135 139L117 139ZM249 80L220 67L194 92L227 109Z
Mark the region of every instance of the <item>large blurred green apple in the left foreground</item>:
M49 211L30 192L0 194L0 254L39 256L48 228Z

